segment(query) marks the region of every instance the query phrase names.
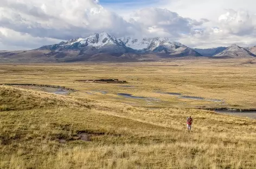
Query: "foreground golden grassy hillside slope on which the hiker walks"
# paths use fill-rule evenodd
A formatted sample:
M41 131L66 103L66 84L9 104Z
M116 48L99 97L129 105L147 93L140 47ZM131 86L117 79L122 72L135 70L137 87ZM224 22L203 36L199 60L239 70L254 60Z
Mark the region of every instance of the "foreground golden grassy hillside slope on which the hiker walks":
M256 167L255 120L9 86L0 91L1 168ZM188 115L192 133L185 132Z

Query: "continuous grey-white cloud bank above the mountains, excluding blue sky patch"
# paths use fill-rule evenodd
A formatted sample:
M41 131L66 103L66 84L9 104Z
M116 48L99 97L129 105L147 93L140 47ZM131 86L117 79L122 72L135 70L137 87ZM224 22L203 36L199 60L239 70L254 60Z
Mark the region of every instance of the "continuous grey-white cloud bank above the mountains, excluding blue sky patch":
M215 22L162 8L131 11L124 19L94 0L0 1L0 50L34 49L102 31L116 37L171 37L190 47L256 42L256 15L244 10L223 11Z

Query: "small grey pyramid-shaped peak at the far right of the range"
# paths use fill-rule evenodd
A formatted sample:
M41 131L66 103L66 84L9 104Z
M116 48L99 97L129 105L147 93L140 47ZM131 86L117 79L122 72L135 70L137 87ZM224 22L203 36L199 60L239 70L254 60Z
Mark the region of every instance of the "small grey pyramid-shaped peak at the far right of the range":
M214 56L230 56L230 57L256 57L250 51L245 48L239 47L236 44L233 44L231 47L223 50L221 53Z

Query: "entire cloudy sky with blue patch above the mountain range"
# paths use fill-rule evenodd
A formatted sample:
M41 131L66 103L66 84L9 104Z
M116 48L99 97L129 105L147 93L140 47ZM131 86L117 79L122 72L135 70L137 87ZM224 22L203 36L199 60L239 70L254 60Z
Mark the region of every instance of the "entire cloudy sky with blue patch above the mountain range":
M191 48L256 45L255 0L0 0L0 50L87 37L170 37Z

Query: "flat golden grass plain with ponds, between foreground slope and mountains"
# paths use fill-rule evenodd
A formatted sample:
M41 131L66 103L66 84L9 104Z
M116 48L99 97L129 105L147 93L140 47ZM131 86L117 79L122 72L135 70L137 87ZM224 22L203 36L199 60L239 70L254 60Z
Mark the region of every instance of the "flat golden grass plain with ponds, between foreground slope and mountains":
M251 60L251 59L249 59ZM256 64L245 64L249 60L184 60L168 63L98 63L98 64L37 64L17 65L2 64L1 83L39 83L60 85L78 89L74 96L113 102L127 102L136 106L191 108L235 107L255 108L256 102ZM176 66L177 65L177 66ZM127 85L84 83L77 79L117 78L127 80ZM107 95L94 90L103 90ZM176 96L155 93L182 93L208 99L224 100L219 102L179 99ZM92 92L93 94L87 94ZM117 93L129 93L162 99L163 102L125 99Z

